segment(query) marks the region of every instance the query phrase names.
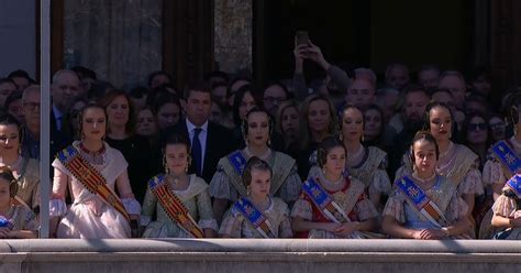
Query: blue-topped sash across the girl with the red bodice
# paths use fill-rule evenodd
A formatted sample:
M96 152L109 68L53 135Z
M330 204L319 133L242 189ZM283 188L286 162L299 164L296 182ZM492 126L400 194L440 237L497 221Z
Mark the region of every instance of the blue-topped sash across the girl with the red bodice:
M345 211L312 177L302 184L302 189L328 219L336 223L350 221Z

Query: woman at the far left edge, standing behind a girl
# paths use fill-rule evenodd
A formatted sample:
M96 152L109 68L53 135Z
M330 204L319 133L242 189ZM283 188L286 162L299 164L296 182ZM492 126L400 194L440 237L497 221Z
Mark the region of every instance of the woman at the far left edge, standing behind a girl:
M40 164L22 155L22 129L18 120L9 114L0 116L0 166L11 168L18 184L13 199L40 212Z

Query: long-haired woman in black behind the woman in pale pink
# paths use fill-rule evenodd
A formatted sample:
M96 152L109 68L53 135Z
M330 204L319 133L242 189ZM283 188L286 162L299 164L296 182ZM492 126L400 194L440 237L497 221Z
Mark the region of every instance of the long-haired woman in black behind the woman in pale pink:
M108 116L107 143L121 151L129 162L129 178L136 199L145 195L145 182L155 173L148 141L135 134L135 111L129 95L111 90L100 100Z

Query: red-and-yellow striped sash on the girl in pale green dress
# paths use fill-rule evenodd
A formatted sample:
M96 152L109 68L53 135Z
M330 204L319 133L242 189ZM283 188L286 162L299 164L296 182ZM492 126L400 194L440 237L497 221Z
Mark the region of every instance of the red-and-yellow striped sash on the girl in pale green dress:
M166 183L165 175L157 175L148 181L148 187L152 193L157 197L165 212L168 215L170 220L177 223L177 226L185 230L187 233L193 236L193 238L203 238L201 228L197 225L193 218L190 216L187 207L182 204L179 197L171 192L170 186Z

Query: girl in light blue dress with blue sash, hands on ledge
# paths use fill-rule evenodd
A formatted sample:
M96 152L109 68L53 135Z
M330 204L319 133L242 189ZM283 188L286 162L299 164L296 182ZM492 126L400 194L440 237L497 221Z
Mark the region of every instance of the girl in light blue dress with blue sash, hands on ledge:
M456 184L435 172L436 140L428 132L418 133L411 154L413 172L396 182L384 209L384 232L403 239L468 238L468 206L456 194Z

